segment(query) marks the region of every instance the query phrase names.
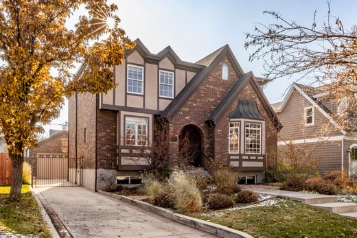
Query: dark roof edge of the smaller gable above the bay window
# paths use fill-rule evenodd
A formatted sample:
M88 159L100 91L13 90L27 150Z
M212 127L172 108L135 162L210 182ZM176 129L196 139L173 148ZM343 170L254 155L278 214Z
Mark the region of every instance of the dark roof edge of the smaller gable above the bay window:
M260 99L260 102L262 102L262 105L264 106L264 109L266 110L270 120L274 123L275 126L277 126L278 130L280 130L282 128L282 125L279 119L277 118L277 115L275 115L273 108L271 108L270 104L268 103L268 99L266 99L262 91L262 88L260 87L257 80L255 80L252 72L244 73L244 75L242 75L242 77L239 80L237 80L235 84L233 84L229 93L227 93L227 95L222 99L220 104L218 104L216 109L211 113L211 115L209 115L209 117L206 120L206 123L208 123L210 126L215 126L218 120L220 119L220 117L222 117L223 113L227 110L227 108L229 108L229 106L233 103L233 100L238 97L239 93L248 83L251 84L255 93L257 93L257 96ZM259 112L257 112L257 114L260 115Z

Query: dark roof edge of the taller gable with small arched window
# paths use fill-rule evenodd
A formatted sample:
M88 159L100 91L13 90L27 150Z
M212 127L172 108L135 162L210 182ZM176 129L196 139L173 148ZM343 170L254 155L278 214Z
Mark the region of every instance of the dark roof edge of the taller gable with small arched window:
M244 75L242 67L240 67L240 64L231 51L231 48L229 48L229 45L224 45L220 49L214 51L214 53L210 53L202 60L198 60L197 64L203 64L205 67L200 72L196 73L194 78L189 81L189 83L183 88L183 90L181 90L175 99L172 100L172 102L165 108L165 110L163 110L161 115L170 121L170 119L175 115L179 108L181 108L181 106L183 106L183 104L187 101L189 96L191 96L196 88L198 88L201 82L207 78L209 73L211 73L211 71L215 69L215 67L226 56L232 62L232 67L235 69L235 71L238 72L238 75Z

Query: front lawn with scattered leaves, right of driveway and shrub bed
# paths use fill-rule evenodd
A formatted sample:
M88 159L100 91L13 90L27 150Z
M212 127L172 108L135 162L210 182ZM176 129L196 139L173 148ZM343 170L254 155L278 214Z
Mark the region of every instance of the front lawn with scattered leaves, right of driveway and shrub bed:
M253 237L357 237L357 219L282 200L273 206L218 211L222 216L195 217L241 230Z

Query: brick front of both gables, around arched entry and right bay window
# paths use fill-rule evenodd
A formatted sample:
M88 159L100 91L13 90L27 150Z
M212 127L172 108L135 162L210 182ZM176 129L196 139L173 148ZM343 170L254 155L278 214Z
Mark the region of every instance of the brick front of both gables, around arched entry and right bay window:
M229 80L222 80L222 64L229 65ZM197 90L187 99L187 102L170 120L170 153L173 160L179 149L178 138L181 129L188 125L194 124L203 132L203 153L209 158L222 160L228 163L228 115L236 108L238 99L249 99L257 102L260 113L266 119L266 154L267 158L274 156L277 151L277 132L276 128L270 122L262 103L259 101L255 91L249 84L238 95L237 99L231 104L227 112L218 122L215 128L209 128L205 119L218 106L223 97L229 92L231 86L240 76L235 73L229 60L224 59L218 67L214 69L209 76L198 86Z

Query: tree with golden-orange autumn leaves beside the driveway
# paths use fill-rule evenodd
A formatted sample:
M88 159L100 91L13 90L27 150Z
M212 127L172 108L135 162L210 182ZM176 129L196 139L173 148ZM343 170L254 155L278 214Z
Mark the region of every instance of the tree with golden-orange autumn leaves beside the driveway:
M80 5L89 15L67 29L66 21ZM0 1L0 128L12 160L12 200L21 195L24 148L36 145L41 125L58 117L64 97L115 86L110 68L133 47L117 25L115 10L106 0ZM103 34L107 40L90 49L90 40ZM78 78L70 73L75 62L87 67Z

